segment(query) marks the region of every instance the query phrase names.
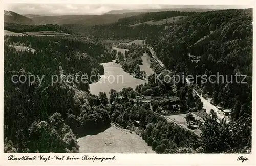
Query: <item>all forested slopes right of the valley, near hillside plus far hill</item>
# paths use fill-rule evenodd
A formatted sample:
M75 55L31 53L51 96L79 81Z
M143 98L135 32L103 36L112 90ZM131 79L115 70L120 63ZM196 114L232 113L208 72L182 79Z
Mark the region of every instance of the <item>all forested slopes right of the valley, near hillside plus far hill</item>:
M178 24L129 25L173 16L187 16ZM215 104L234 108L251 102L252 84L252 10L229 9L195 12L154 12L119 19L117 23L102 24L83 29L80 25L65 25L84 36L106 40L146 39L157 57L170 70L185 75L247 75L247 84L205 84L203 92ZM192 57L201 57L191 61ZM199 62L198 62L199 61ZM198 63L196 63L198 62ZM243 77L240 77L242 81ZM201 85L201 80L198 80ZM240 107L238 106L238 107ZM247 107L247 106L245 106ZM238 109L238 108L237 108ZM247 108L245 108L247 109ZM234 109L236 110L236 109ZM239 114L239 113L236 113Z

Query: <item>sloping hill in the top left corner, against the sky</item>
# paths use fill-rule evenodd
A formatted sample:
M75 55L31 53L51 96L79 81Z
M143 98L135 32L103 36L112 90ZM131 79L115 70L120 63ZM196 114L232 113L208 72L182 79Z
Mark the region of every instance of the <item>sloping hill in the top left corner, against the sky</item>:
M12 11L5 10L4 15L5 15L5 22L8 22L8 23L28 24L28 25L34 23L32 19Z

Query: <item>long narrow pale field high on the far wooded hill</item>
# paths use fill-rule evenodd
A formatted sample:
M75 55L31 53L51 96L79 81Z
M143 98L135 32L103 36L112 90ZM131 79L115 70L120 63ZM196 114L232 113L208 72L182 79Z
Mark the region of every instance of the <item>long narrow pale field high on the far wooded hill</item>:
M178 21L181 21L182 19L184 19L186 16L176 16L176 17L170 17L170 18L166 18L166 19L162 19L160 21L147 21L147 22L142 22L142 23L137 23L134 25L130 25L130 26L138 26L140 24L149 24L149 25L164 25L164 24L170 24L170 23L176 23Z

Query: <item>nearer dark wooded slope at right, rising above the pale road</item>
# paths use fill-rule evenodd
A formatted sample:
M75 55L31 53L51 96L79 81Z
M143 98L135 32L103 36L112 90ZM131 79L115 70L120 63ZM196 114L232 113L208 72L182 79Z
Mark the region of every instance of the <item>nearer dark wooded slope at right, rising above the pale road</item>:
M210 34L210 31L214 31ZM202 37L205 39L199 41ZM203 93L212 97L215 104L233 108L236 112L242 105L247 107L252 97L252 15L250 10L224 10L205 12L190 16L181 26L174 26L163 36L147 40L164 65L185 75L228 76L247 75L247 84L203 84ZM196 43L196 44L195 44ZM200 56L198 63L191 62L188 53ZM209 79L209 78L208 78ZM224 77L226 80L226 78ZM243 77L239 78L240 81ZM201 80L198 82L201 85ZM235 104L234 104L235 103ZM239 107L239 108L236 108Z

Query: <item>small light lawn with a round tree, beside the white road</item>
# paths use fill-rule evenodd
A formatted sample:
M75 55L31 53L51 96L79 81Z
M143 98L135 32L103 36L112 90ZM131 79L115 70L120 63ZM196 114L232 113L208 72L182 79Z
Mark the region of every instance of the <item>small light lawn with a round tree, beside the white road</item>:
M195 117L195 120L201 120L202 122L204 122L203 118L197 116L194 113L191 113L191 114ZM190 130L191 132L194 132L196 135L199 136L200 133L201 133L200 129L191 130L191 129L188 128L188 124L187 124L187 121L186 121L186 115L187 114L178 114L178 115L169 115L169 116L166 116L166 117L169 118L171 121L176 122L177 124L179 124L182 127Z

